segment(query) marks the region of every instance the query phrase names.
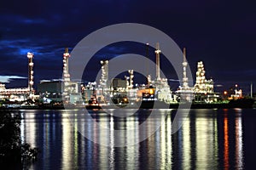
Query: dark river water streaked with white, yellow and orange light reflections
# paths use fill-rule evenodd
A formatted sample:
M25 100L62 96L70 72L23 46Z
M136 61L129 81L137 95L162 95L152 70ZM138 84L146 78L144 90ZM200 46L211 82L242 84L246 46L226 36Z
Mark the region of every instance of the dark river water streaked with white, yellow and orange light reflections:
M126 118L103 112L92 114L102 127L132 129L118 137L112 130L97 129L79 111L21 111L21 138L42 151L32 169L233 169L253 165L253 110L191 110L183 127L174 134L172 120L176 111L159 112L160 128L132 146L114 144L119 142L116 138L137 139L157 127L154 119L148 119L147 111ZM148 126L137 130L146 120ZM110 146L85 139L81 135L84 132L90 132L92 138L101 134Z

